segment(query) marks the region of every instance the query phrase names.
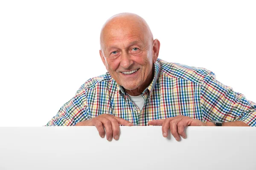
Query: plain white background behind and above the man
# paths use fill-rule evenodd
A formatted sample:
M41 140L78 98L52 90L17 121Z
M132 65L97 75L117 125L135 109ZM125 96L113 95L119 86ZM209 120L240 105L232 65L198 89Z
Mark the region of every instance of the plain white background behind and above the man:
M168 2L168 3L167 3ZM254 0L0 1L0 126L42 126L105 74L99 33L120 12L143 17L159 58L207 68L256 102Z

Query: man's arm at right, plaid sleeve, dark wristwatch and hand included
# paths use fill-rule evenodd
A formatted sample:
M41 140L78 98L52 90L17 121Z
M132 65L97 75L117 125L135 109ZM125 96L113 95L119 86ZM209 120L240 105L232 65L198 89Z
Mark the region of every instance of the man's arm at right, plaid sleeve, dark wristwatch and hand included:
M212 72L201 84L201 112L202 121L180 115L149 121L148 124L162 126L164 137L168 136L170 129L177 141L180 136L186 138L186 126L215 126L211 120L223 122L222 126L256 126L256 104L218 82Z

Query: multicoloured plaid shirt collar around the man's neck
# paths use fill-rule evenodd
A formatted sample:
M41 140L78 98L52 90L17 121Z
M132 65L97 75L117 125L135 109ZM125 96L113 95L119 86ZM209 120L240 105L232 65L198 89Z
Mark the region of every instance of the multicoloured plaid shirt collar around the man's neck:
M154 86L156 85L157 79L159 77L160 74L160 65L158 62L154 63L154 78L152 80L152 82L150 83L150 85L148 86L148 88L146 88L142 94L144 94L146 91L149 92L149 96L151 96L152 91L154 89ZM117 84L117 90L119 91L119 93L121 92L122 94L125 94L125 89L121 86Z

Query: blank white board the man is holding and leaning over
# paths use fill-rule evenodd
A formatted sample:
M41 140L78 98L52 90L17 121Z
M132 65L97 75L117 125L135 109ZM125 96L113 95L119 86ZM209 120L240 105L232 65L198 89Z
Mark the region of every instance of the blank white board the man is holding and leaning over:
M118 141L96 127L0 127L0 170L256 170L255 127L121 126Z

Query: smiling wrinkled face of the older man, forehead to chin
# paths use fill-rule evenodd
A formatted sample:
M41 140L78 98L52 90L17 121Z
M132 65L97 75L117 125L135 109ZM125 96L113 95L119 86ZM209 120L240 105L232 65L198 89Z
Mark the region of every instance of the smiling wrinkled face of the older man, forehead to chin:
M131 27L104 34L102 61L116 82L127 90L146 88L153 78L153 40ZM143 89L143 90L144 90Z

